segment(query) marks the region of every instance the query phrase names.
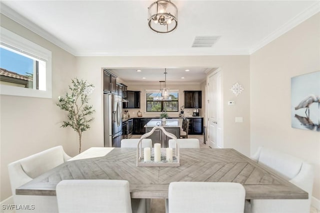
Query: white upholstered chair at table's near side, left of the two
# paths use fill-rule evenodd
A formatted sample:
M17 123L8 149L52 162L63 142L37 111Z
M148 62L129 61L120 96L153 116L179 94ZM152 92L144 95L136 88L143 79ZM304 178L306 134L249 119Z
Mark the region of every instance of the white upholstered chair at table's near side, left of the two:
M56 186L59 213L145 213L125 180L63 180Z

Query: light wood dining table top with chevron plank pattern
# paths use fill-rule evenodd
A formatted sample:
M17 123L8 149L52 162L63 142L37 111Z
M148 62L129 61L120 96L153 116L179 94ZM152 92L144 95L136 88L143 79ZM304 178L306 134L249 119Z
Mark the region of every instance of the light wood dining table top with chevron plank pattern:
M16 194L55 196L61 180L110 179L127 180L131 198L167 198L169 183L176 181L240 183L248 200L308 198L300 188L233 149L180 149L179 167L136 167L135 148L90 149L19 187ZM90 151L100 157L92 158Z

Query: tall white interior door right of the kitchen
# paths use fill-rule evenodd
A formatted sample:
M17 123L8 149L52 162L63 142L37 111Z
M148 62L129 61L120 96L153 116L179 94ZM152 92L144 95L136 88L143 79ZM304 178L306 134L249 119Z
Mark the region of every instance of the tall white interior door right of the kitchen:
M223 148L222 79L218 71L208 77L208 127L209 146Z

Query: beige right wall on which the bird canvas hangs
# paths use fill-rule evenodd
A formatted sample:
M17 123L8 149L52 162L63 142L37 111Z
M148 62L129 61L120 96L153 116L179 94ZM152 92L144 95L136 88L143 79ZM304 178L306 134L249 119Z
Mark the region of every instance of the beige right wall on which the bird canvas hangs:
M271 147L313 163L316 199L320 199L320 134L291 128L290 79L318 70L319 13L250 57L251 153L258 146Z

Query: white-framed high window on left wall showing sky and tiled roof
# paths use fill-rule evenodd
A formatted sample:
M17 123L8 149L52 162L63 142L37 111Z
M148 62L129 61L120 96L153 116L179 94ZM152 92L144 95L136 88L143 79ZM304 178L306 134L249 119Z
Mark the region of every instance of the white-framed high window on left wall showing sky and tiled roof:
M51 52L1 27L0 92L51 98Z

